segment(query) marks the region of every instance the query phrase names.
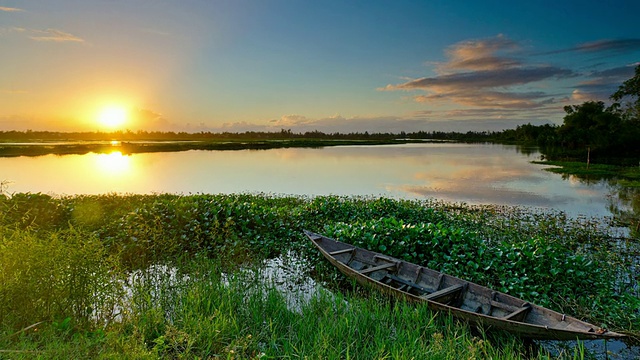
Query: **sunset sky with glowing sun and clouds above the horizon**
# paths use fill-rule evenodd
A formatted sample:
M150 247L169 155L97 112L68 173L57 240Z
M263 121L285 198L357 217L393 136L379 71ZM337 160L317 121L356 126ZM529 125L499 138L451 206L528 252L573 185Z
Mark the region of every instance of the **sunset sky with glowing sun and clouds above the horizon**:
M640 62L640 1L0 0L0 131L500 131Z

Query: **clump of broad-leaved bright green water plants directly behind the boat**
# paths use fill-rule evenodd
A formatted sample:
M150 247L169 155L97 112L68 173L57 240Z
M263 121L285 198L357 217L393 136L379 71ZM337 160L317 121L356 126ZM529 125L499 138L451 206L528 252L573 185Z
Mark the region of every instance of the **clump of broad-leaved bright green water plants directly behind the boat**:
M557 299L605 298L615 290L611 279L616 274L601 263L598 255L602 254L575 249L573 243L549 237L490 243L479 233L457 226L406 224L394 218L337 223L325 230L330 236L356 246L484 284L543 306L554 307ZM591 311L605 315L610 309L594 307Z

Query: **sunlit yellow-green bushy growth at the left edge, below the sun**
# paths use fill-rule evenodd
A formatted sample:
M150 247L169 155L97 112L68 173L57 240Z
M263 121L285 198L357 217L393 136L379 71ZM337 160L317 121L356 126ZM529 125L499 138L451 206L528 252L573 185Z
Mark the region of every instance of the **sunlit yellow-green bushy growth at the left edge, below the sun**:
M100 240L75 229L0 227L0 323L21 328L71 318L86 327L109 321L121 296L113 267Z

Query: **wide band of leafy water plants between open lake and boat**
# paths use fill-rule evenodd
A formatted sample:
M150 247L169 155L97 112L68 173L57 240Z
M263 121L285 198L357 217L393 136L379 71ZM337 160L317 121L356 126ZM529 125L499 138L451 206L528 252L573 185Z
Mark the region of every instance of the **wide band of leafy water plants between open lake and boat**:
M640 328L637 241L616 240L607 224L563 213L269 194L14 194L0 196L0 209L5 229L44 234L71 226L97 239L121 271L195 256L233 267L288 251L306 254L316 261L311 268L321 269L324 262L302 235L308 229L611 328ZM337 278L326 270L314 274Z

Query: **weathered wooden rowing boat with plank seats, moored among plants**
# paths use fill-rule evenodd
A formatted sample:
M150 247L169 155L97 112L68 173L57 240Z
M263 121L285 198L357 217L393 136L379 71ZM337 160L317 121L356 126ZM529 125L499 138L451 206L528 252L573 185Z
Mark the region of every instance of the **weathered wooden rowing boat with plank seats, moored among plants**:
M348 277L407 300L426 303L474 326L501 329L530 339L614 339L625 335L530 304L441 272L310 231L320 252Z

